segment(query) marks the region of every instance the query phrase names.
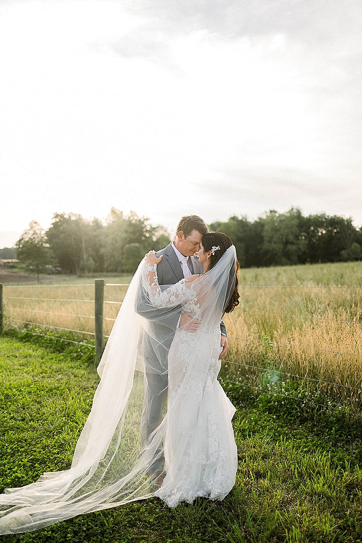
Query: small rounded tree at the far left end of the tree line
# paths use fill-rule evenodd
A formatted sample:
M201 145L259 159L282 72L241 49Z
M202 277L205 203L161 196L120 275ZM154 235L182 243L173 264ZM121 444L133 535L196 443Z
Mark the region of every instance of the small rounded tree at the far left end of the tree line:
M35 271L37 282L40 274L46 271L46 266L52 261L52 253L45 231L36 220L32 220L29 229L25 230L15 244L17 258L30 271Z

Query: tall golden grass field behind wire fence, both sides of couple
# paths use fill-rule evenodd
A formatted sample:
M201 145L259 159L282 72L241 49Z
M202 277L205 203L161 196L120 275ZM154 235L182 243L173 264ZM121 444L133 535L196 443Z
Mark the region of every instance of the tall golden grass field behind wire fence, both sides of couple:
M106 277L105 282L130 279ZM105 287L106 336L126 289ZM255 387L277 381L277 392L289 393L302 379L307 395L322 393L328 401L360 411L362 263L242 269L239 290L240 305L225 318L230 380ZM5 285L4 300L5 323L30 321L93 337L94 279Z

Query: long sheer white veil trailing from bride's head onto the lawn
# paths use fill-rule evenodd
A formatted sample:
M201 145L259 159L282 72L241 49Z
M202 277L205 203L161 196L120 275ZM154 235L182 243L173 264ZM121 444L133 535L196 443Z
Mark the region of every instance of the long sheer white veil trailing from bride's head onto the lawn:
M147 439L142 438L144 372L167 375L165 355L175 334L170 323L177 323L182 311L196 307L195 317L201 320L198 333L215 329L235 277L233 246L192 286L183 280L156 293L144 261L139 264L97 368L100 382L71 468L44 473L35 483L5 490L0 495L0 534L34 531L156 495L150 472L163 454L167 414ZM156 361L151 368L150 361Z

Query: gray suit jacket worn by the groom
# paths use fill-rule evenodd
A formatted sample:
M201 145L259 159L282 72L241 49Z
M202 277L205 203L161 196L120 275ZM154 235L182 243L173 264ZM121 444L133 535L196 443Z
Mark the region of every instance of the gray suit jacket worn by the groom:
M163 255L163 258L159 264L157 264L157 278L158 284L161 289L162 286L166 288L167 285L175 285L178 281L183 279L182 268L180 261L172 247L172 243L167 245L164 249L157 251L156 256ZM191 256L189 261L192 264L192 273L200 274L204 271L204 268L200 264L198 258ZM140 289L141 290L141 289ZM155 374L164 374L167 372L167 357L170 345L172 343L177 325L181 315L181 306L175 308L170 312L167 319L161 323L157 323L157 308L151 306L144 295L140 296L137 300L137 313L151 319L149 325L152 326L152 335L158 338L159 342L153 342L147 338L144 338L143 342L143 358L145 364L145 371ZM221 332L226 336L226 329L224 323L221 323Z

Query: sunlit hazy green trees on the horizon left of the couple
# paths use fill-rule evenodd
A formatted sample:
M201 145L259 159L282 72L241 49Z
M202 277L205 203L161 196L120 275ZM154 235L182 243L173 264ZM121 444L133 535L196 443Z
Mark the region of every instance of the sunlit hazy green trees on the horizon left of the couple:
M134 212L112 208L106 223L75 213L55 213L47 231L35 220L15 244L20 262L41 271L67 274L133 273L145 252L170 242L163 226Z

